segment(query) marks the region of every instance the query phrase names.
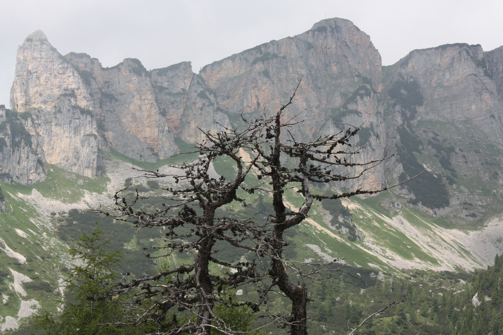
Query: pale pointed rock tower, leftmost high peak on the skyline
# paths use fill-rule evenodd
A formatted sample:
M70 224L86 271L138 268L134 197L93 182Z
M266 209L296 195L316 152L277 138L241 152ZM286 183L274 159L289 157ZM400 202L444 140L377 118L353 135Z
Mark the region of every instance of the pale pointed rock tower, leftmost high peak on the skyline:
M34 141L48 163L96 175L94 102L75 68L41 31L29 35L18 49L11 107L31 114Z

